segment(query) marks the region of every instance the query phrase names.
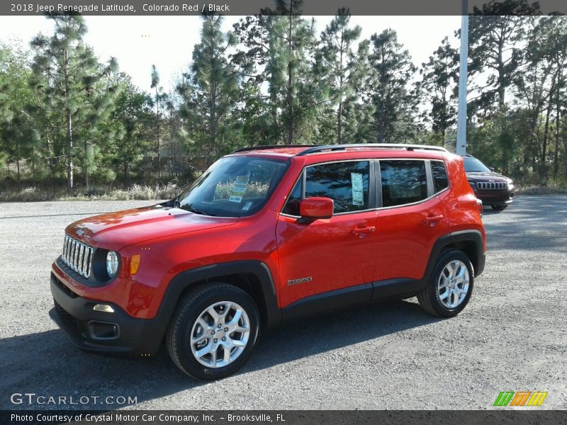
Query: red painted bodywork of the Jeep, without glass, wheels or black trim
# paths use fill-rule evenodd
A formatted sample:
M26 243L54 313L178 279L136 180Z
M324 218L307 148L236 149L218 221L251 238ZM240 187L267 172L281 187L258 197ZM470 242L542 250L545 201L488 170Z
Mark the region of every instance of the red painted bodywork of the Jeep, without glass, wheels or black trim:
M448 232L478 229L484 239L481 214L461 157L371 148L293 156L301 150L286 147L242 153L291 161L269 201L254 215L207 217L154 206L89 217L69 225L66 232L86 244L118 251L122 261L118 278L92 288L67 276L55 263L53 272L82 297L115 302L134 317L152 318L176 274L211 263L263 261L274 278L279 306L285 307L308 295L359 283L421 278L432 244ZM303 167L345 159L388 158L444 160L449 190L415 205L320 220L301 222L280 214ZM326 215L328 201L303 201L302 210ZM141 256L140 268L135 276L129 276L134 254ZM288 280L307 277L313 278L308 284L288 285Z

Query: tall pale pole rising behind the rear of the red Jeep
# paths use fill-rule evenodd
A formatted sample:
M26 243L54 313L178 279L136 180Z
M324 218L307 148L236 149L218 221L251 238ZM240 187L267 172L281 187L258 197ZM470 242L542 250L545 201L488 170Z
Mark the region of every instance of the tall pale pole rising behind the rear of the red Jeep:
M466 154L466 77L468 60L468 1L461 16L461 67L459 68L459 115L456 123L456 153Z

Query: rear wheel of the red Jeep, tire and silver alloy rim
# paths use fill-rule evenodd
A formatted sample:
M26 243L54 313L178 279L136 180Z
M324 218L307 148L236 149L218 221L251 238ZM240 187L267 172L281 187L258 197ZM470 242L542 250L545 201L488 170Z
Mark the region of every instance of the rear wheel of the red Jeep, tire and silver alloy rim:
M453 275L451 268L454 269ZM454 317L468 304L473 286L474 271L468 256L457 249L443 251L435 263L429 283L417 295L417 301L423 310L434 316Z

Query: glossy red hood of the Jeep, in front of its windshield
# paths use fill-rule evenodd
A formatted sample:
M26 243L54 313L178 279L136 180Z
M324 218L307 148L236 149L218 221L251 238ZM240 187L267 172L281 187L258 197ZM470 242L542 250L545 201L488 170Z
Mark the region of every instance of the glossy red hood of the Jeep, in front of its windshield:
M209 217L152 205L88 217L67 226L65 232L85 244L118 251L150 239L230 226L237 221L237 217Z

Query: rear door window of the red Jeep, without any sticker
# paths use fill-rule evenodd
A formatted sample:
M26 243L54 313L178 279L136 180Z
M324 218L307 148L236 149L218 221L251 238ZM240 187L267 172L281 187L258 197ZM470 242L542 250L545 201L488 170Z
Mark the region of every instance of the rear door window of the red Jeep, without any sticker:
M381 161L380 173L383 207L414 203L427 198L425 161Z

